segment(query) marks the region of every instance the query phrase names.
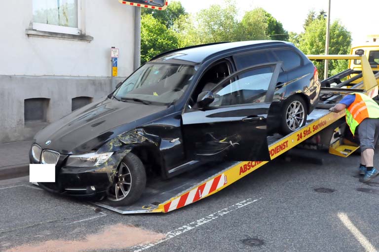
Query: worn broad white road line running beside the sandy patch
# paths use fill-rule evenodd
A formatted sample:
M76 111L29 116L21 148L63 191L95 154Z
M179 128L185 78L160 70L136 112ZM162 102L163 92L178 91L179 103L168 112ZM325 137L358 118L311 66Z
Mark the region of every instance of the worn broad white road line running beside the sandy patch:
M260 198L260 199L262 199L262 198ZM258 200L260 200L260 199L258 199ZM220 211L214 212L212 214L209 214L208 216L206 216L204 218L198 219L198 220L190 222L190 223L188 223L188 224L186 224L184 226L181 226L181 227L179 227L179 228L177 228L175 230L172 230L172 231L170 231L170 232L168 232L168 233L165 234L166 238L164 238L163 240L160 240L160 241L158 241L156 243L137 245L137 246L132 247L131 250L133 252L140 252L140 251L144 251L144 250L150 249L150 248L154 247L155 245L158 245L158 244L160 244L162 242L170 240L171 238L179 236L179 235L181 235L181 234L183 234L183 233L185 233L185 232L187 232L189 230L192 230L192 229L194 229L194 228L196 228L198 226L201 226L201 225L206 224L206 223L208 223L208 222L210 222L212 220L215 220L215 219L217 219L217 218L219 218L219 217L221 217L221 216L223 216L223 215L225 215L225 214L227 214L229 212L232 212L234 210L246 207L246 206L248 206L248 205L250 205L250 204L252 204L254 202L257 202L258 200L247 199L247 200L241 201L241 202L236 203L236 204L234 204L234 205L232 205L230 207L227 207L227 208L225 208L223 210L220 210Z

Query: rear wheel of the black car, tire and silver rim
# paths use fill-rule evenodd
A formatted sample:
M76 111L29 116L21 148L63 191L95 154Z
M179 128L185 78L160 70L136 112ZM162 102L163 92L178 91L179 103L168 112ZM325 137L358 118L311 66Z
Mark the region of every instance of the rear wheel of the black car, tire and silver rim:
M282 135L288 135L305 125L308 115L307 108L300 95L293 95L285 101L281 114L280 132Z

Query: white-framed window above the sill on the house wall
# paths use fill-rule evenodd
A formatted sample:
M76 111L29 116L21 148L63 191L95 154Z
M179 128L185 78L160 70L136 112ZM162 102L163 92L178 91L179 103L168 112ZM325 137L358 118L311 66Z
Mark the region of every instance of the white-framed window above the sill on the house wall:
M33 29L80 34L80 0L33 0Z

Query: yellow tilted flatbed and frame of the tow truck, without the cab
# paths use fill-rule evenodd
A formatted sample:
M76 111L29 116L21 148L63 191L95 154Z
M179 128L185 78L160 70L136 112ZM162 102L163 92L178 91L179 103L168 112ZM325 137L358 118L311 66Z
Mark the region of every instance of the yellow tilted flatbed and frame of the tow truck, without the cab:
M374 73L365 55L308 55L311 60L360 60L361 70L347 69L321 82L318 107L308 116L302 128L285 136L267 136L270 159L283 155L297 146L327 149L330 154L348 157L359 148L358 142L346 130L345 111L331 113L329 108L351 92L378 96L379 73ZM146 191L133 205L114 207L103 202L93 204L119 212L167 213L209 197L235 181L242 179L269 161L219 163L196 168L169 180L149 181Z

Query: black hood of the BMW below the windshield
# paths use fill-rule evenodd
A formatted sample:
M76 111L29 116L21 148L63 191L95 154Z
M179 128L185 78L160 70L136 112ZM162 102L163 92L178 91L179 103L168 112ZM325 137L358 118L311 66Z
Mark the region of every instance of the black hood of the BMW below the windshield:
M35 140L42 149L61 154L87 152L120 133L160 118L167 109L167 106L104 98L46 126L36 134ZM48 140L51 143L46 145Z

